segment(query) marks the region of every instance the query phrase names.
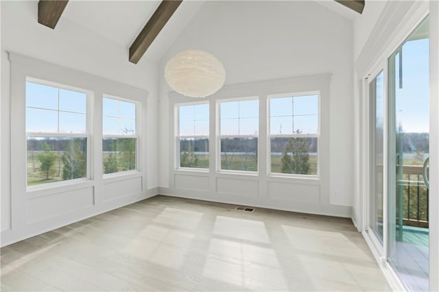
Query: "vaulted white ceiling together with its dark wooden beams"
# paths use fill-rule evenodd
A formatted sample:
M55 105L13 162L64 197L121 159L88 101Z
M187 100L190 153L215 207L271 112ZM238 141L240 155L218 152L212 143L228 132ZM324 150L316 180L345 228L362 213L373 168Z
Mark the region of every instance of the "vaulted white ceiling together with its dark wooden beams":
M62 14L61 21L62 18L69 19L112 42L130 48L131 62L137 63L145 50L146 58L160 60L205 1L182 1L181 4L180 0L167 2L172 3L40 0L38 22L54 28ZM364 0L315 2L351 20L358 17L364 8ZM143 40L139 40L142 36Z

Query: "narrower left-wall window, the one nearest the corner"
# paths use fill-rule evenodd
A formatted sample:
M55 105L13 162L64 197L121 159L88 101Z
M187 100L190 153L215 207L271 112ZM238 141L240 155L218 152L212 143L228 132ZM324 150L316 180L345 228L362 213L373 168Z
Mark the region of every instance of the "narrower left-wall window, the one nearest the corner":
M137 169L136 104L102 99L102 151L104 173Z

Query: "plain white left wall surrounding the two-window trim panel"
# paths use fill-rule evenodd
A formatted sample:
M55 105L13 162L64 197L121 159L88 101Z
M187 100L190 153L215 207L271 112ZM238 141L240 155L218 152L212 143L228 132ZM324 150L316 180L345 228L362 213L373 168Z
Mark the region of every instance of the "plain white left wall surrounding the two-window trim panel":
M2 235L3 231L10 230L13 216L10 212L10 62L5 51L147 90L148 98L143 100L147 107L143 121L147 127L147 163L143 168L147 171L145 187L148 191L145 189L145 194L156 192L158 186L157 62L143 58L138 64L132 64L128 62L128 47L116 45L68 19L62 19L54 30L40 25L37 23L37 5L38 1L1 1Z

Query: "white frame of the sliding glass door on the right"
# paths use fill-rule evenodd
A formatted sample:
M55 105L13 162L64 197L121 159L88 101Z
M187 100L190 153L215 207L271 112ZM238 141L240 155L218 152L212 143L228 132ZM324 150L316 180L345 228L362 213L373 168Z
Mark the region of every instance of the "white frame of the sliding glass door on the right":
M434 27L430 27L430 53L429 53L429 66L430 66L430 86L433 87L430 88L430 147L434 148L435 145L438 146L439 149L439 129L434 130L434 127L432 126L435 123L435 120L439 122L439 101L433 101L434 98L438 98L439 96L439 88L437 84L437 78L439 76L439 69L435 68L435 60L439 61L439 53L438 53L438 43L439 43L439 34L438 36L435 35L435 32L439 32L439 2L436 1L429 1L429 2L423 2L423 3L416 3L414 5L416 7L411 8L412 14L410 16L407 16L407 18L404 19L404 21L401 21L399 25L397 25L397 30L393 35L393 38L386 43L385 47L383 47L382 50L378 52L378 55L376 58L373 58L372 66L370 66L370 69L366 72L364 75L359 75L359 78L361 80L358 80L358 86L359 86L359 94L361 96L361 101L359 103L359 130L361 130L361 133L359 135L359 186L360 186L360 203L362 204L360 210L361 210L361 232L364 235L364 238L366 239L366 242L368 243L370 250L372 251L372 254L374 254L375 258L377 259L383 273L385 274L386 278L388 278L390 285L392 286L392 289L395 289L396 291L400 290L407 290L408 287L406 287L405 283L402 282L401 278L399 278L399 274L394 270L392 265L388 263L388 252L389 252L389 238L390 238L390 228L389 226L389 206L388 206L388 191L389 191L389 185L390 185L390 179L389 173L390 173L390 163L389 163L389 121L392 117L389 117L389 103L388 103L388 70L389 70L389 64L388 59L392 55L392 53L398 49L401 44L405 41L405 39L412 34L414 29L418 27L418 25L425 19L426 16L429 15L430 23L433 23ZM433 8L433 9L431 9ZM436 47L435 47L436 45ZM439 62L437 62L439 64ZM436 64L436 65L438 65ZM385 118L384 118L384 154L383 154L383 168L384 168L384 186L383 186L383 245L381 245L380 241L376 238L374 232L370 232L370 218L369 218L369 202L370 202L370 195L371 195L371 175L370 175L370 167L371 165L371 149L370 149L370 127L373 125L372 121L370 119L370 82L375 79L375 77L380 73L380 71L383 70L383 87L384 87L384 112L385 112ZM436 77L436 79L434 79ZM436 84L434 84L436 82ZM436 94L436 95L435 95ZM436 108L434 107L436 105ZM395 114L395 113L394 113ZM434 117L434 118L432 118ZM393 117L394 118L394 117ZM439 123L438 123L439 124ZM432 152L432 151L430 151ZM433 163L436 162L436 165L434 167L431 167ZM439 193L439 175L438 178L433 178L434 173L439 174L439 152L437 154L431 154L430 153L430 193L434 193L436 190L436 193ZM394 172L394 171L393 171ZM393 178L396 180L395 178ZM433 186L431 186L433 185ZM439 207L439 196L436 196L436 198L433 198L433 195L429 196L429 208L431 212L430 214L430 221L434 220L433 216L433 210L432 208L436 208L436 212ZM436 215L436 218L439 219L439 214ZM431 222L430 230L433 230L434 228L438 228L439 226L439 220L438 222ZM433 231L430 232L430 255L429 255L429 265L430 265L430 277L429 277L429 289L436 289L439 290L439 267L436 267L435 265L438 265L438 258L435 258L435 255L439 255L439 232ZM392 234L393 236L393 234ZM436 250L431 250L431 248L434 248ZM432 268L433 267L433 268ZM436 291L435 290L435 291Z

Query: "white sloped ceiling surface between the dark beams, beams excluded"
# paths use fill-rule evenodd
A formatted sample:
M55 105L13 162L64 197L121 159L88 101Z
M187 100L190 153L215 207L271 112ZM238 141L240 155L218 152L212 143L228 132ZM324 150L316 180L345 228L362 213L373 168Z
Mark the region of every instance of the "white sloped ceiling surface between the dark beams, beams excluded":
M187 23L200 10L204 2L196 0L182 1L161 33L147 49L143 58L160 60L182 30L185 29ZM128 49L160 3L161 0L71 0L61 18L65 17L69 21L82 25ZM347 19L353 20L359 16L357 12L353 12L333 0L318 0L316 3Z

